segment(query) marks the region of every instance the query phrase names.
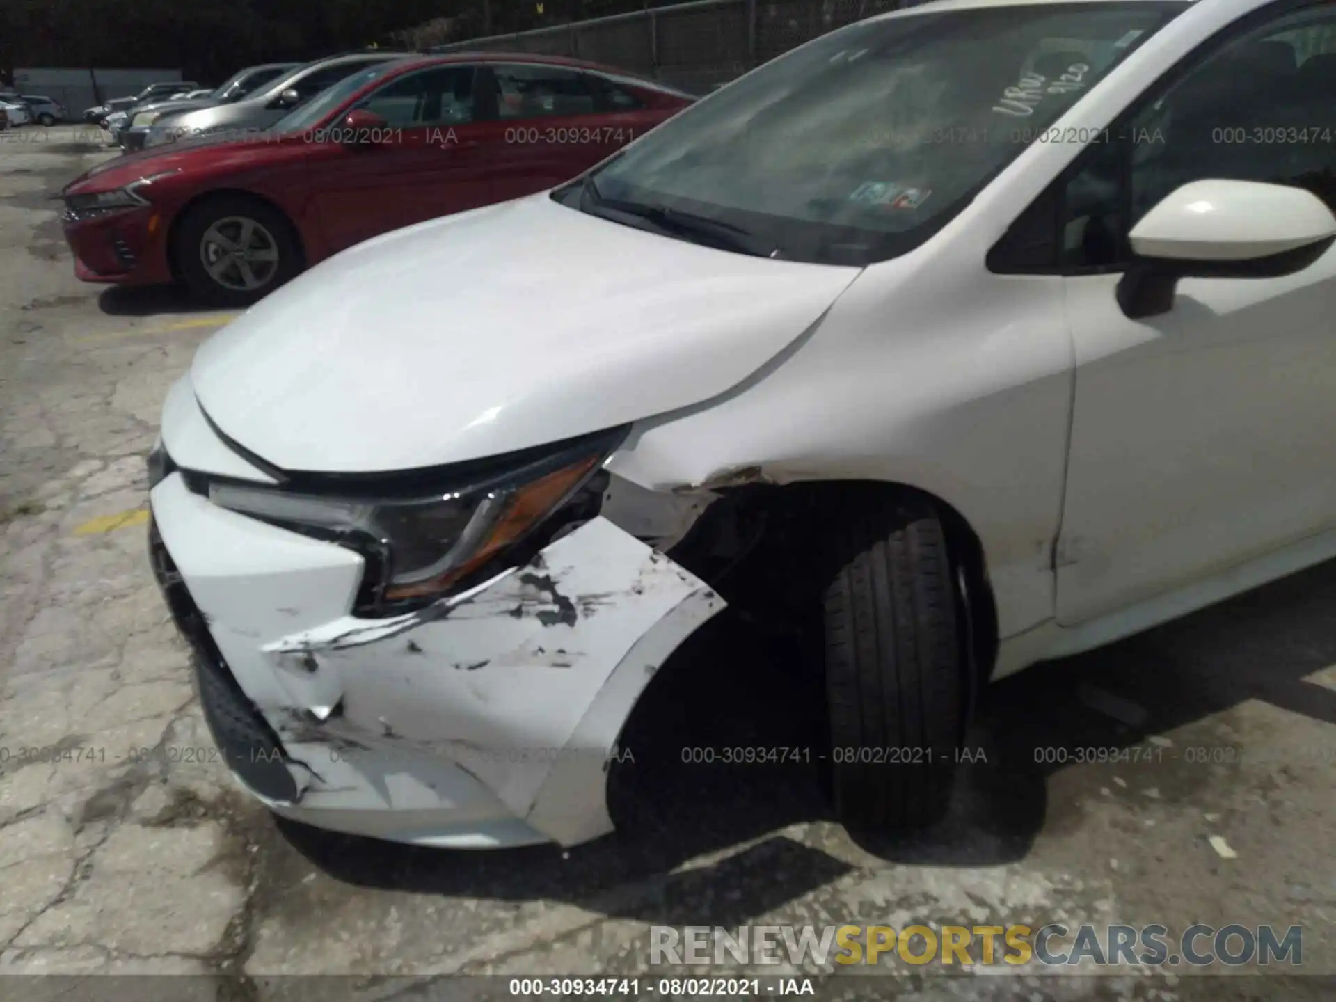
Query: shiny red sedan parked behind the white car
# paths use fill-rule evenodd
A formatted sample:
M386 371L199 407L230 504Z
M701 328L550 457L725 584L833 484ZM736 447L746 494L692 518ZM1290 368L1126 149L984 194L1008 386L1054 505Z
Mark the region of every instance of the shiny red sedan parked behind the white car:
M410 56L274 127L99 164L64 192L75 274L254 302L386 230L560 184L693 99L569 59Z

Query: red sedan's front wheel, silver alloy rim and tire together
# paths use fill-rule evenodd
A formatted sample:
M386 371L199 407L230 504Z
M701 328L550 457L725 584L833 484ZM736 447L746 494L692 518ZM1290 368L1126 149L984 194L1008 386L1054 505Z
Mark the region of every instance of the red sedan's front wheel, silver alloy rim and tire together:
M186 285L219 306L248 306L302 270L287 216L244 195L210 198L187 210L172 253Z

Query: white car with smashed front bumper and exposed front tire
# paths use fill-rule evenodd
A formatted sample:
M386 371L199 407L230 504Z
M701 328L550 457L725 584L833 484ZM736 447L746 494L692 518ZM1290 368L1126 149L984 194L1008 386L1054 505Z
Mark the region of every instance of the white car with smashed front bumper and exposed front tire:
M254 306L151 458L238 779L595 838L647 683L755 601L812 615L838 815L925 824L989 679L1336 554L1333 47L1331 4L929 4Z

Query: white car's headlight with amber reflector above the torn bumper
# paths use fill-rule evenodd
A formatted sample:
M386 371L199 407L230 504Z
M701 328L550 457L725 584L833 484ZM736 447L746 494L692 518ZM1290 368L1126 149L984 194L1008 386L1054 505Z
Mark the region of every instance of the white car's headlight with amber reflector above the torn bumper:
M334 496L210 482L208 498L358 550L369 574L378 577L378 599L411 601L450 591L510 549L584 486L621 436L619 429L615 437L587 437L504 474L430 492Z

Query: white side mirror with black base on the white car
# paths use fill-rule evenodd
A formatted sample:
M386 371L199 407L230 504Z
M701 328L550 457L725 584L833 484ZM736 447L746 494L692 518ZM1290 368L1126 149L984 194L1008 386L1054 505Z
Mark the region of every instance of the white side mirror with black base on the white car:
M1194 180L1169 192L1128 235L1118 282L1130 319L1173 307L1180 278L1276 278L1303 271L1336 240L1336 216L1304 188Z

